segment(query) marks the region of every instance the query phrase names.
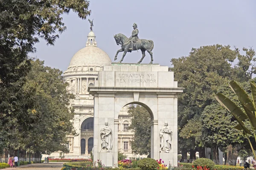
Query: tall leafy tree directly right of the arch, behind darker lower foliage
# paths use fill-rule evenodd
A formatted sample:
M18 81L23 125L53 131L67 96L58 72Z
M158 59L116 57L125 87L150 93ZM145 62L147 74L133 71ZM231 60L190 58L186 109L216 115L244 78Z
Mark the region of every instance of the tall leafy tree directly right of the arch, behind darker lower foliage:
M254 61L254 50L243 48L243 51L246 53L245 55L241 55L237 48L235 50L230 49L229 45L209 45L198 49L192 48L189 56L171 60L174 67L170 70L174 71L178 86L185 88L183 94L180 94L178 98L179 141L184 143L184 141L190 139L193 143L185 142L182 145L183 148L181 148L183 153L191 151L191 149L202 150L201 146L204 145L198 141L202 140L202 136L207 136L206 134L212 134L213 136L209 136L209 138L214 138L214 133L208 133L209 131L207 131L210 129L200 128L200 125L204 126L202 124L205 122L204 119L208 119L207 116L202 118L201 115L207 106L215 104L214 96L220 88L223 88L221 87L223 82L228 82L231 79L245 81L255 73L255 67L251 63L251 61ZM232 67L236 58L239 59L239 63ZM208 112L205 111L205 113ZM194 126L195 122L199 127ZM224 126L212 127L212 130L217 128L221 133ZM197 138L200 140L197 140ZM202 157L202 154L200 157Z

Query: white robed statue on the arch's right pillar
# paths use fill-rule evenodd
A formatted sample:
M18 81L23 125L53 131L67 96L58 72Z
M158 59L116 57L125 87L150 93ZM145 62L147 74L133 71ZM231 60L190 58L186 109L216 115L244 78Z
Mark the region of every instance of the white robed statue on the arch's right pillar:
M172 149L172 130L167 122L164 123L164 126L160 130L160 142L160 151L169 153Z

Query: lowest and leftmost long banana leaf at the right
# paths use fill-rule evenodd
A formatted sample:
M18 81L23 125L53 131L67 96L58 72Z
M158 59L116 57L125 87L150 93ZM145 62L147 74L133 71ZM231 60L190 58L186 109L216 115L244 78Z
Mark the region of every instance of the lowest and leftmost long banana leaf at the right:
M248 119L248 116L234 103L232 102L229 98L224 96L221 93L218 93L215 95L215 98L218 100L218 102L224 106L228 111L230 111L239 125L241 127L236 126L237 128L242 128L245 133L251 134L250 130L245 127L243 120Z

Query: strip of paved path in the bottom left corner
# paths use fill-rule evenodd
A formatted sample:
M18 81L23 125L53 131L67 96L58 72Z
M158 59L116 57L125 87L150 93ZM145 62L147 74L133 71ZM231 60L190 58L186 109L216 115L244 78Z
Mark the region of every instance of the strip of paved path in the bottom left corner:
M63 162L49 162L41 164L28 164L19 167L9 167L4 170L61 170Z

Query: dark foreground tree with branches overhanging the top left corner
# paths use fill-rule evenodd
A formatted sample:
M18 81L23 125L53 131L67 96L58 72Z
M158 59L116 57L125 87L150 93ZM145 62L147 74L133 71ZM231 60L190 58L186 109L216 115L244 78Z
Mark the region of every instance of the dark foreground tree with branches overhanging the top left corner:
M34 87L21 90L31 69L28 54L35 52L39 37L54 45L66 26L62 15L73 10L86 19L87 0L1 0L0 1L0 129L17 118L27 128L35 122L28 110L34 109ZM27 130L27 129L23 129Z

